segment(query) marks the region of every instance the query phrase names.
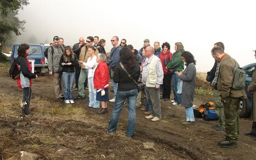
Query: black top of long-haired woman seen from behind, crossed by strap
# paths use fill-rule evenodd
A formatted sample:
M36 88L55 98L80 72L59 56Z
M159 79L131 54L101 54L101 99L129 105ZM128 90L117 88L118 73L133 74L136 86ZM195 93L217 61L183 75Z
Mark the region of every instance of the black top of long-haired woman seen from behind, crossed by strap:
M136 81L140 78L141 68L137 64L135 67L130 68L129 66L124 66L127 72L132 76L132 78ZM114 69L114 77L113 80L115 83L118 83L118 91L130 91L137 88L137 85L131 78L129 78L128 74L121 67L120 63L118 63Z

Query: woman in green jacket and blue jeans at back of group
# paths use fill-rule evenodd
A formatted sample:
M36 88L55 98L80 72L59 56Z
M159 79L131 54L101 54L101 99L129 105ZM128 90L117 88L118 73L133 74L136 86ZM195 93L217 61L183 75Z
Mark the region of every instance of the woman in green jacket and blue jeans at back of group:
M180 72L184 69L184 62L181 60L181 54L184 50L183 44L181 42L175 43L175 52L172 55L171 61L167 64L166 68L171 70L172 73ZM177 84L179 81L179 76L177 74L172 75L172 80L174 82L174 100L171 100L172 105L180 104L180 95L177 94Z

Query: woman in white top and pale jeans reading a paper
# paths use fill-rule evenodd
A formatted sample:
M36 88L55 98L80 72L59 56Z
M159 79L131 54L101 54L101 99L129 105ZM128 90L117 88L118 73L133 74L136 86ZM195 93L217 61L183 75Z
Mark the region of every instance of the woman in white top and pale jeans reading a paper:
M96 100L96 89L93 85L94 72L97 67L97 56L95 55L96 48L94 46L88 46L88 54L90 57L87 62L79 61L82 63L86 69L88 69L88 87L89 87L89 107L90 108L99 108L99 101Z

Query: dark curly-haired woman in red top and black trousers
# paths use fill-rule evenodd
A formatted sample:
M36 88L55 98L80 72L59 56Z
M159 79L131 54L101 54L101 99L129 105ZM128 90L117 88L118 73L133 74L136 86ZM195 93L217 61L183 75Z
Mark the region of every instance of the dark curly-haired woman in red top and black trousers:
M160 52L159 58L162 62L163 70L164 70L164 79L163 79L163 95L162 99L169 100L171 96L171 75L170 70L166 69L168 62L171 61L172 53L170 52L170 44L168 42L163 43L162 45L163 51Z

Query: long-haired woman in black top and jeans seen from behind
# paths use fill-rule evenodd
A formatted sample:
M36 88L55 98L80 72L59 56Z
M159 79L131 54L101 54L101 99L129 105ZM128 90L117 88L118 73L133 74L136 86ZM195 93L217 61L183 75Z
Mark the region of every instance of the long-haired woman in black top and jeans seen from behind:
M135 60L131 49L124 47L120 50L120 61L114 69L114 82L118 83L115 104L109 121L108 132L115 132L118 125L119 114L125 99L128 99L128 126L126 135L132 137L135 132L136 99L138 87L135 81L140 78L140 66ZM126 71L125 71L126 70ZM131 76L129 76L129 74Z

